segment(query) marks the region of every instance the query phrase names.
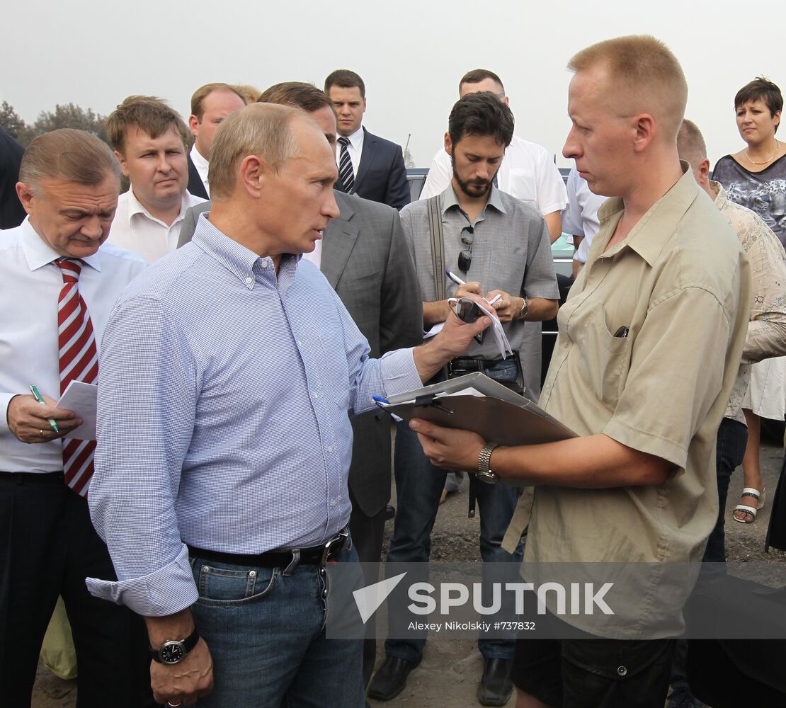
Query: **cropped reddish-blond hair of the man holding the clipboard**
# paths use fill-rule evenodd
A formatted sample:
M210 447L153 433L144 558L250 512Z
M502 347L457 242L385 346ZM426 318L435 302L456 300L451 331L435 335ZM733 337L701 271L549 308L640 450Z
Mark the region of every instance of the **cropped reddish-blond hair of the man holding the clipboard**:
M567 68L582 72L599 65L615 90L622 89L633 103L631 115L659 116L664 138L677 139L688 103L688 83L677 57L663 42L650 35L605 39L576 53ZM616 98L623 102L619 94ZM641 110L647 106L656 108Z

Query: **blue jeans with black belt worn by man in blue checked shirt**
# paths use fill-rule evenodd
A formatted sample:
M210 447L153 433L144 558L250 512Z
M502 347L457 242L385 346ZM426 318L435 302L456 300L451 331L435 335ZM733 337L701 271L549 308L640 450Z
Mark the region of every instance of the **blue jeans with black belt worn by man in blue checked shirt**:
M350 546L337 560L358 554ZM362 708L362 640L325 638L321 566L285 577L282 568L191 563L191 611L213 658L213 692L200 708Z

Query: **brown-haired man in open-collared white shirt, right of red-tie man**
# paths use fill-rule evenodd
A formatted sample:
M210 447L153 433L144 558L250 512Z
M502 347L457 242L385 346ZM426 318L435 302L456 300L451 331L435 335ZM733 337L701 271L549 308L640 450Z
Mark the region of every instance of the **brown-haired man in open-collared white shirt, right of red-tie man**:
M106 119L106 132L131 183L119 196L109 243L152 263L178 247L185 211L204 201L185 189L188 128L160 99L129 96Z

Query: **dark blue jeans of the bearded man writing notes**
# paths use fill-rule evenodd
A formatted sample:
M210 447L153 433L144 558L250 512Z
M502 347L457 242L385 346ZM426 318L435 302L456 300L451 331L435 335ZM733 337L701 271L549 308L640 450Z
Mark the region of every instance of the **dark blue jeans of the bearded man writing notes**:
M446 472L431 464L417 434L399 424L395 438L396 515L388 563L426 563L432 550L432 528ZM484 563L521 563L521 546L511 555L502 550L502 538L516 509L516 490L505 484L478 485L480 556ZM388 639L385 654L415 661L423 653L425 636ZM485 658L512 658L514 640L479 640Z

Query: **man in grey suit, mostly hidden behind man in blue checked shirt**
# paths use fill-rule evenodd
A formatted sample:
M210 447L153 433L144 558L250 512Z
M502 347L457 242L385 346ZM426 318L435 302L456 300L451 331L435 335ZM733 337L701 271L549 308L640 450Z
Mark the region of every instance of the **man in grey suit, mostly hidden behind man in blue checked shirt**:
M303 108L336 141L336 112L328 97L308 83L271 86L259 101ZM399 214L384 204L336 191L340 216L332 219L313 253L316 263L336 290L352 319L369 340L371 356L380 357L423 340L421 292L406 247ZM185 214L178 247L191 240L196 218L211 203L191 207ZM390 419L386 413L365 413L352 420L354 446L349 471L352 501L350 530L360 560L377 563L382 553L385 507L391 490ZM376 577L369 582L376 582ZM373 622L373 620L369 620ZM367 684L376 656L376 642L365 641L363 677Z

